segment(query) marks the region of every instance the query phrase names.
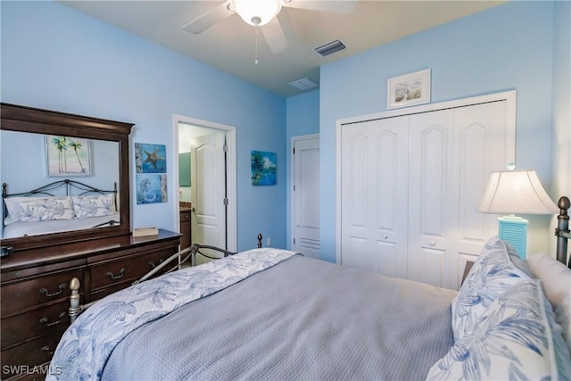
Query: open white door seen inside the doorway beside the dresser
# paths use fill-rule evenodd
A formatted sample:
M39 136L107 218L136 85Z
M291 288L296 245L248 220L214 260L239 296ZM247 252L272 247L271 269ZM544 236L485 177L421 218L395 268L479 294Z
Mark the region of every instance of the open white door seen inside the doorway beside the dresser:
M190 149L193 244L227 245L225 134L194 137ZM197 258L197 263L202 259Z

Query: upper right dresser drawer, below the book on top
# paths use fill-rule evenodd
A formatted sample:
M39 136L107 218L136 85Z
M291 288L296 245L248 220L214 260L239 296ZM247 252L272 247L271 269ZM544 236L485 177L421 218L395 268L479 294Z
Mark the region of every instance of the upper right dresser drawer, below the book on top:
M93 290L98 290L102 287L119 284L129 286L134 280L143 277L147 272L154 269L173 253L176 252L170 249L158 249L142 255L94 264L91 266L92 293ZM175 264L176 263L173 263L172 265L174 266ZM168 269L170 269L170 267L168 267Z

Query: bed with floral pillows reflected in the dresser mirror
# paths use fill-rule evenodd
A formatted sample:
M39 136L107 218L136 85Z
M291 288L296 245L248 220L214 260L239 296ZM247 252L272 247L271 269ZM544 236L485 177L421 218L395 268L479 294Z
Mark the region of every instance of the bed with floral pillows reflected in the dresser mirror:
M102 190L66 178L14 194L4 183L2 199L4 239L115 226L120 219L117 183Z

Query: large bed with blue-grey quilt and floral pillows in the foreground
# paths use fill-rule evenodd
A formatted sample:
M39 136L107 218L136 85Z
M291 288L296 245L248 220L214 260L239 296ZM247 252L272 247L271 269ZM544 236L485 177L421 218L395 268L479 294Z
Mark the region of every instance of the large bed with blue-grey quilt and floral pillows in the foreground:
M73 280L70 311L85 311L47 379L571 379L567 254L521 261L492 237L459 291L274 248L223 254L88 309Z

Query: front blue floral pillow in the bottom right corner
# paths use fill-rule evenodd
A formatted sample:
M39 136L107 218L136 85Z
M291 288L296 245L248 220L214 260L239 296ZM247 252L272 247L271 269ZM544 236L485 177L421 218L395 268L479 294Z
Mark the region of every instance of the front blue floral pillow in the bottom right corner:
M523 280L501 294L426 379L571 379L571 357L541 281Z

